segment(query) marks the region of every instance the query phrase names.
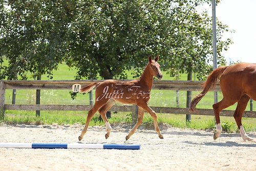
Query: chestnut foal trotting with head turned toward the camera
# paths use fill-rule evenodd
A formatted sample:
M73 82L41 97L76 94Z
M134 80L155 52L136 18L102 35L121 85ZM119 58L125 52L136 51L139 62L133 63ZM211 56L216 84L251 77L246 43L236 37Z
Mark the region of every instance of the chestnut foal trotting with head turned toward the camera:
M125 137L126 140L135 133L137 127L142 123L144 111L150 113L153 117L155 130L158 133L159 138L163 139L163 135L158 127L156 112L147 105L148 100L150 100L153 77L156 76L158 79L162 79L163 77L163 74L160 71L160 65L157 62L158 58L158 55L155 60L152 59L151 56L148 57L148 64L139 79L132 81L105 80L103 82L93 82L79 90L80 92L89 92L95 86L98 86L95 91L95 103L93 108L88 112L86 125L84 126L81 135L78 137L79 141L87 132L89 122L97 111L99 111L99 114L106 125L105 138L109 138L112 129L108 118L106 118L106 112L117 101L125 104L137 104L139 107L137 123Z

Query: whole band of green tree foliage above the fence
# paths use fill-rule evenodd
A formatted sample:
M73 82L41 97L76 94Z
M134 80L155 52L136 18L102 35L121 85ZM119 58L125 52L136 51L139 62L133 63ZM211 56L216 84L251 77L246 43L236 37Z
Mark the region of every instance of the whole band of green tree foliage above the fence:
M0 79L48 74L59 63L77 69L75 79L139 76L147 56L160 56L170 75L211 70L211 18L196 7L207 0L0 0ZM218 22L218 63L229 31ZM3 65L3 55L9 66ZM202 74L203 73L203 74Z

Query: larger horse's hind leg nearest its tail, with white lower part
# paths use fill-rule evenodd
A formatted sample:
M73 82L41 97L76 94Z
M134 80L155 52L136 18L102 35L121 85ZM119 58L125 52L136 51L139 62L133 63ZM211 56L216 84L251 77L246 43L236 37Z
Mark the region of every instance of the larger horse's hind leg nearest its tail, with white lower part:
M212 105L212 108L214 109L214 114L215 114L215 119L216 119L216 133L214 133L214 139L216 140L217 138L220 137L221 132L222 132L222 127L221 127L221 122L220 122L220 112L221 110L227 108L230 105L233 105L236 101L231 101L229 100L225 100L225 98L223 98L220 102L215 103L214 105Z

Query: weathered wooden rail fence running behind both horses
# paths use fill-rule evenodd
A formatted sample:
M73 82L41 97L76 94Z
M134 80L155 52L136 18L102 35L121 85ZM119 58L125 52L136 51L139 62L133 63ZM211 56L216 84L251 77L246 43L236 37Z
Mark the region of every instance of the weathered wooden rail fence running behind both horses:
M33 110L33 111L89 111L92 105L59 105L59 104L5 104L6 89L29 89L29 90L71 90L72 85L79 83L85 86L92 82L102 80L0 80L0 119L4 119L5 110ZM157 90L180 90L200 91L202 81L172 81L155 80L153 89ZM220 91L220 85L212 91ZM197 109L190 113L188 108L170 108L152 106L157 113L191 114L191 115L214 115L212 109ZM132 112L133 119L137 119L138 108L136 105L114 105L110 111ZM223 110L221 116L233 116L232 110ZM245 111L243 117L256 118L255 111Z

